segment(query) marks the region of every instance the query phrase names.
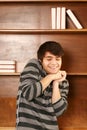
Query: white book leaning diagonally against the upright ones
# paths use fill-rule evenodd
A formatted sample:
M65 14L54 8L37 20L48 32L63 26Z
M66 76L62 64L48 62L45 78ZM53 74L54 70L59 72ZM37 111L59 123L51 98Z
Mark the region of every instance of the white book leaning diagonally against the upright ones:
M80 24L77 17L75 16L75 14L70 9L68 9L66 12L67 12L68 16L70 17L70 19L72 20L72 22L74 23L74 25L76 26L76 28L82 29L83 27Z

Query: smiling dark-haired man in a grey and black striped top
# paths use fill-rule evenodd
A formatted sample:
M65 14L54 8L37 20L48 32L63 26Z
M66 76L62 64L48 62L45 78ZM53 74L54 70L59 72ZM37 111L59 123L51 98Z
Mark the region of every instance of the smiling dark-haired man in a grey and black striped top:
M17 130L59 130L57 118L67 108L69 83L61 70L63 48L43 43L20 76L17 96Z

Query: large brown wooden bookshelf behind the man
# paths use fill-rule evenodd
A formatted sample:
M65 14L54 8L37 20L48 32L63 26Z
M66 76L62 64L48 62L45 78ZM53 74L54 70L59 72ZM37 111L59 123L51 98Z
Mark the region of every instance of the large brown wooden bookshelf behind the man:
M58 6L74 11L84 28L77 29L67 17L66 29L52 29L51 8ZM56 40L64 47L63 68L70 81L70 92L68 110L58 119L60 130L87 130L87 17L84 12L87 12L87 0L0 0L0 59L16 60L20 68L46 40ZM3 129L15 127L19 77L19 71L0 73L0 127Z

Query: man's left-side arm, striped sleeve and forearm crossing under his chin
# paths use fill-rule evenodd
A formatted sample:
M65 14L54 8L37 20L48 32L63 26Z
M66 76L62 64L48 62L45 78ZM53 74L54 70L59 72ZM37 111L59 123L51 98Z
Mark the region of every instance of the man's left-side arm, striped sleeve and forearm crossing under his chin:
M19 90L28 101L40 96L48 85L58 78L59 74L49 74L42 78L43 70L40 67L37 60L31 60L21 73Z

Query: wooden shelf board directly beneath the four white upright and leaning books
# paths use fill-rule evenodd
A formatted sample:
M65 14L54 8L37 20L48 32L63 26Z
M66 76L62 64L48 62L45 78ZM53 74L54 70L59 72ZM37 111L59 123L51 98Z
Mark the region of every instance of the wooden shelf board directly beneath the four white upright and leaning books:
M0 29L0 34L87 33L87 29Z

